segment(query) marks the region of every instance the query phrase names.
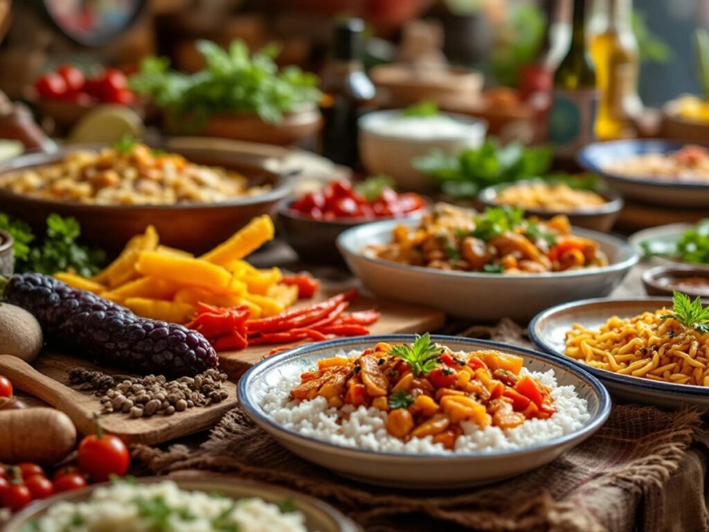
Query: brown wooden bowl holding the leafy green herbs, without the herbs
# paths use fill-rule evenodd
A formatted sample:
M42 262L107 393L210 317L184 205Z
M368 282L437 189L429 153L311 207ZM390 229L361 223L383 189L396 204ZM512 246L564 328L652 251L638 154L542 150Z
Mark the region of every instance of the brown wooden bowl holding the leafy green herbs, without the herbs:
M196 128L198 131L194 131L194 121L165 111L164 126L171 135L199 134L254 143L301 145L320 131L323 120L320 111L314 107L286 114L279 123L264 122L255 114L221 113L210 116L203 126Z

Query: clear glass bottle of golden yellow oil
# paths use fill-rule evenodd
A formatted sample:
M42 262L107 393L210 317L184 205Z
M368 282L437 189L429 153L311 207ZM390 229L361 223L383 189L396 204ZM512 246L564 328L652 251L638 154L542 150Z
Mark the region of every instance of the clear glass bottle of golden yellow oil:
M600 98L596 136L600 140L632 138L635 120L642 113L637 94L640 54L632 31L632 0L599 1L589 31Z

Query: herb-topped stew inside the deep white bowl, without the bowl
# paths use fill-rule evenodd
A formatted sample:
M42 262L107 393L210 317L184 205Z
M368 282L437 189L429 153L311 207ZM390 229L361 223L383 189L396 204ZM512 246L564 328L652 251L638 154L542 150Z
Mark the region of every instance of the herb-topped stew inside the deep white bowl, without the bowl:
M488 273L563 272L608 265L598 243L571 233L566 216L524 218L520 209L484 213L437 204L416 227L401 224L376 257L438 270Z

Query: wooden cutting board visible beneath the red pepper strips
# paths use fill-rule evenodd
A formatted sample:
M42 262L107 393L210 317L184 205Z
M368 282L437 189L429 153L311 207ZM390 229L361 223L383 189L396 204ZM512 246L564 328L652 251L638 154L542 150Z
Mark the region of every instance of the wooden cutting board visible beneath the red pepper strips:
M324 301L342 291L341 284L323 284L313 299L299 301L294 308ZM379 320L367 327L372 335L432 333L440 329L445 323L445 313L441 311L398 301L369 299L361 295L352 301L347 312L367 309L376 309L381 313ZM238 379L252 365L267 357L269 351L277 347L278 345L254 345L251 348L240 351L223 351L219 353L219 365L230 378Z

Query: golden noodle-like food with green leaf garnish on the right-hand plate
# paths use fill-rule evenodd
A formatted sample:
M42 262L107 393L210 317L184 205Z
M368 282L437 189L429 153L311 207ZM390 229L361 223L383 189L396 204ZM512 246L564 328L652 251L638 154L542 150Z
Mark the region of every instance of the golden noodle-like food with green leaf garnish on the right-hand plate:
M564 353L620 375L709 386L709 307L675 292L673 309L613 316L597 330L576 323Z

